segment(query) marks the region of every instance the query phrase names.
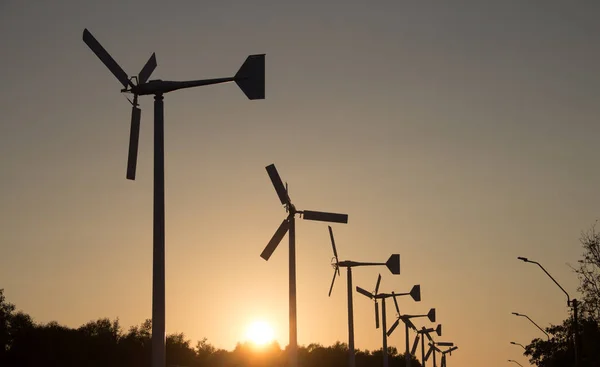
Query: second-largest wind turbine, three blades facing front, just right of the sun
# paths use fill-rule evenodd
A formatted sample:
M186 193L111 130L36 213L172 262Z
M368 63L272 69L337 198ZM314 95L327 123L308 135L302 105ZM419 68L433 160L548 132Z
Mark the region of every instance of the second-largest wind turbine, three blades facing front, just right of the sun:
M287 185L283 186L281 177L275 168L274 164L265 167L275 192L279 196L279 201L285 206L285 211L288 213L287 217L281 222L277 231L260 254L265 260L269 260L283 236L289 231L289 318L290 318L290 341L289 341L289 353L290 353L290 366L296 367L298 365L298 330L296 325L296 214L300 215L301 218L307 220L317 220L322 222L333 222L333 223L348 223L348 214L337 214L327 212L317 212L312 210L297 210L290 197L288 195Z

